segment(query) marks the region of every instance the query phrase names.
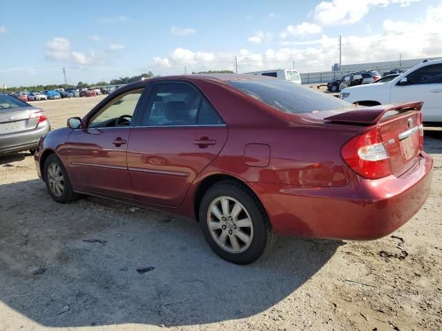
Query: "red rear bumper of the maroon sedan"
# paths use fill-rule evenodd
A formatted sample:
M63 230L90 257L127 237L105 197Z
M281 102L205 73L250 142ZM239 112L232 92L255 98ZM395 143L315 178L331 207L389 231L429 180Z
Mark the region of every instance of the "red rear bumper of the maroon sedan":
M371 240L390 234L421 209L430 193L432 158L401 177L369 180L355 176L344 187L302 188L249 183L278 234Z

